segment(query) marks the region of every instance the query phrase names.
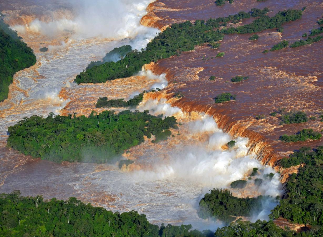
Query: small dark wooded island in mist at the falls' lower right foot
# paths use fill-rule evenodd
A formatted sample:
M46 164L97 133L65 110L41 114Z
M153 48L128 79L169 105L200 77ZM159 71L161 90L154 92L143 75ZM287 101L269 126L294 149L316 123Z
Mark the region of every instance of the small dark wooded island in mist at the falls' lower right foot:
M250 216L252 210L261 207L263 198L263 196L237 198L232 196L228 189L212 189L201 199L198 214L203 219L214 216L225 223L230 223L235 220L234 216Z

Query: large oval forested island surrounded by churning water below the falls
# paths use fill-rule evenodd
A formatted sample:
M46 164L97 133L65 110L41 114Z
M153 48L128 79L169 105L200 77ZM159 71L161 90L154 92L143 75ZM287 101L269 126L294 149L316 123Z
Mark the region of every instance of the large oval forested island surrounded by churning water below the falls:
M177 128L175 117L159 117L125 110L92 112L89 117L31 116L8 128L7 145L25 155L55 162L106 163L131 146L151 138L165 137ZM169 132L166 132L170 135Z

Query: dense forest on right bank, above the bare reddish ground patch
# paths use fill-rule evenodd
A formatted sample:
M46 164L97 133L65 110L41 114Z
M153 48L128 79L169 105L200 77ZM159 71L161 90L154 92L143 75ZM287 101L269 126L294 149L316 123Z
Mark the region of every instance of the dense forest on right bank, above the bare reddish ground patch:
M302 147L281 160L283 167L304 164L298 173L289 176L286 194L280 205L272 210L271 218L282 216L294 223L323 225L323 146L317 149ZM313 233L314 235L314 233ZM321 236L321 235L315 235Z

